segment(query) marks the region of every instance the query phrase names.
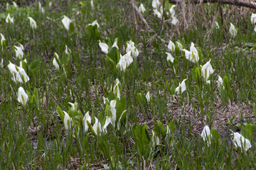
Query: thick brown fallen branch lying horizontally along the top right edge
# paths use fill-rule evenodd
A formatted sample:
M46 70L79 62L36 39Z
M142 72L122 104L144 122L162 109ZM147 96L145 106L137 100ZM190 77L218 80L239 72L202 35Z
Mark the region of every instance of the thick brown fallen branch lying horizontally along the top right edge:
M171 4L178 4L181 3L183 0L169 0L169 3ZM188 0L191 4L200 4L202 3L220 3L220 4L230 4L230 5L235 5L235 6L244 6L247 8L256 8L256 3L255 2L250 2L250 1L242 1L242 0ZM188 3L186 1L186 3Z

